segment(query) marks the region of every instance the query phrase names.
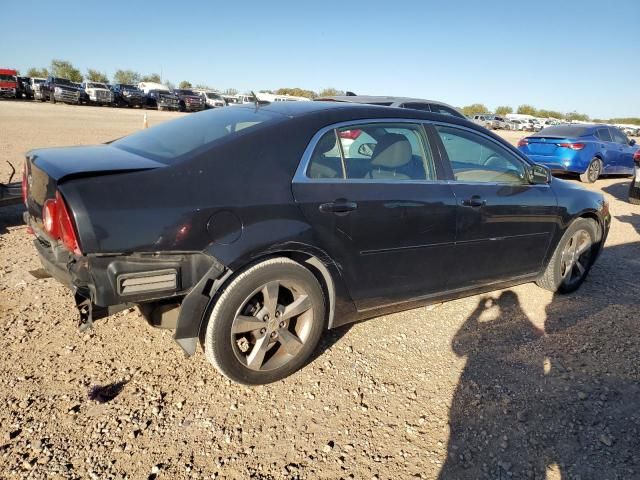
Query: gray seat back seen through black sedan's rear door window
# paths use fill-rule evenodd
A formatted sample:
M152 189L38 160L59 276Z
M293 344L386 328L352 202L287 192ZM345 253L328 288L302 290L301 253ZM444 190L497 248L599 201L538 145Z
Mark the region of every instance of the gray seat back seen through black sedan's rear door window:
M371 156L370 178L410 180L411 177L403 172L413 156L411 143L404 135L387 133L378 141Z

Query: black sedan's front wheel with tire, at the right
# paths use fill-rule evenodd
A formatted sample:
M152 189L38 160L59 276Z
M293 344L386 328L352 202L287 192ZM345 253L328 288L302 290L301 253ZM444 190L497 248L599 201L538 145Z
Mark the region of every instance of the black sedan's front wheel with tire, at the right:
M571 293L587 278L598 249L598 225L589 218L575 220L558 242L539 287L552 292Z

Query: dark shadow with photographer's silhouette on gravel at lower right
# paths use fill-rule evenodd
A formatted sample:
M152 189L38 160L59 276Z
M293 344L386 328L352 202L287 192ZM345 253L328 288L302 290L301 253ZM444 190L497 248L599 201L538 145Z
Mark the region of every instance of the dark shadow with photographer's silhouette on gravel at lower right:
M595 280L554 296L544 330L512 290L478 302L452 341L467 362L440 479L640 478L638 300L618 265L638 254L605 249Z

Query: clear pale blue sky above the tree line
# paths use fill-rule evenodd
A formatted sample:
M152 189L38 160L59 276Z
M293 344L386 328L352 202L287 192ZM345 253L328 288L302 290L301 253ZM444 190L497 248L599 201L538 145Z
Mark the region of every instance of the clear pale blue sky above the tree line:
M640 117L640 0L2 2L0 67ZM143 5L144 4L144 5Z

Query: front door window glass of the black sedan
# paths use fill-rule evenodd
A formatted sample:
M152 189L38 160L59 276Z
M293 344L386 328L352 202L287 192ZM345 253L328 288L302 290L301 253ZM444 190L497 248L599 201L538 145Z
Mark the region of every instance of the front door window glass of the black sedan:
M436 126L436 130L457 181L528 183L525 163L497 143L460 128Z

